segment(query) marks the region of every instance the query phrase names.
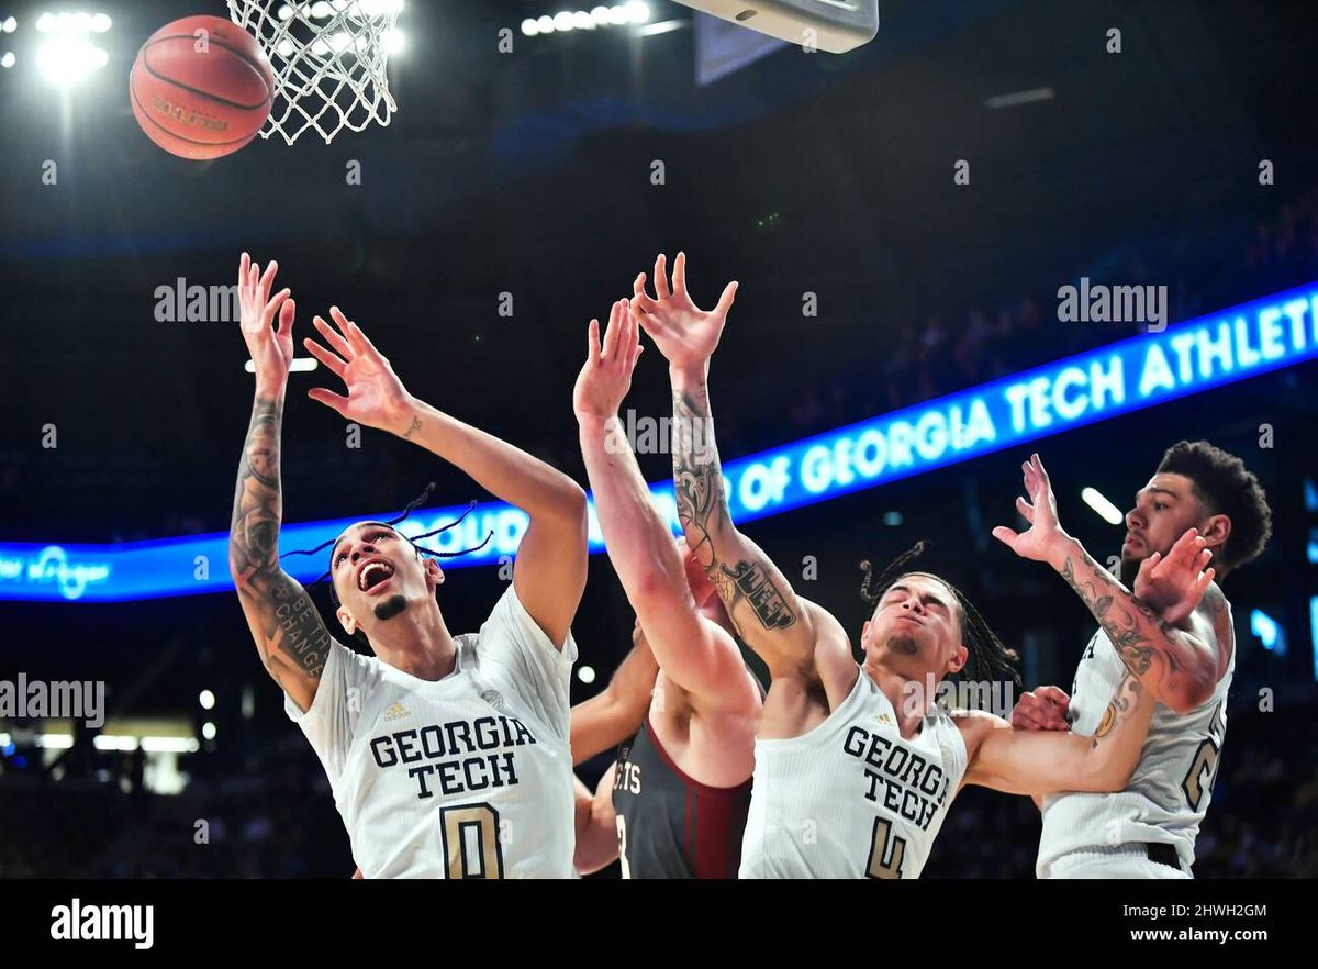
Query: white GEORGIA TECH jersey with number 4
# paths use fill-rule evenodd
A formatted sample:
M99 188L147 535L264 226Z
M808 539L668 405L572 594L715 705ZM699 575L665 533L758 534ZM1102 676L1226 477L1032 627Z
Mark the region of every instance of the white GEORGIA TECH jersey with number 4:
M919 878L966 771L961 730L938 711L903 740L865 670L800 737L755 741L742 878Z

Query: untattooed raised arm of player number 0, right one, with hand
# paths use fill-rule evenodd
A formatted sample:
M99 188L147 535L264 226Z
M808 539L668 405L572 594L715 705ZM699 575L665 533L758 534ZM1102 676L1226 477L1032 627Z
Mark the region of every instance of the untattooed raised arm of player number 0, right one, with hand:
M308 393L349 421L420 444L476 484L531 517L513 566L513 585L526 610L554 645L563 647L576 614L587 571L585 493L567 475L505 440L416 399L389 360L337 307L337 327L316 316L328 347L307 349L347 384L348 396L316 388Z

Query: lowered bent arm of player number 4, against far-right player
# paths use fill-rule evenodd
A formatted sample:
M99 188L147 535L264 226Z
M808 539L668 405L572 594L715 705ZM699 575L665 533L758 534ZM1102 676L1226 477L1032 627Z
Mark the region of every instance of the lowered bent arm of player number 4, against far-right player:
M1093 737L1054 730L1014 730L1002 717L956 716L969 762L962 783L1006 794L1120 791L1140 761L1155 704L1130 672L1112 693Z

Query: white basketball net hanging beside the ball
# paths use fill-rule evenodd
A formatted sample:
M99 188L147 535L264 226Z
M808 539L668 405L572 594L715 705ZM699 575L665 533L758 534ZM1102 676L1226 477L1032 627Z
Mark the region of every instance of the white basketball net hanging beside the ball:
M290 145L316 131L328 145L344 128L386 125L398 109L385 67L403 0L228 0L229 17L274 67L274 105L261 137Z

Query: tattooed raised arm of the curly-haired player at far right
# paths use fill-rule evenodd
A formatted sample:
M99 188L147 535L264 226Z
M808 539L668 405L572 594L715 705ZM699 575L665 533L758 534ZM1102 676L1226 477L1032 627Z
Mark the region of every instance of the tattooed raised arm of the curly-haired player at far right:
M1016 534L994 529L994 537L1017 555L1046 562L1075 591L1098 620L1116 654L1157 701L1188 713L1213 695L1231 659L1231 612L1215 585L1202 589L1190 614L1174 625L1118 581L1057 523L1057 504L1039 455L1023 465L1029 501L1016 506L1031 523Z

